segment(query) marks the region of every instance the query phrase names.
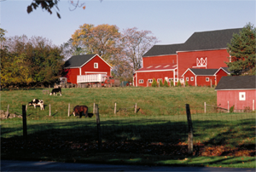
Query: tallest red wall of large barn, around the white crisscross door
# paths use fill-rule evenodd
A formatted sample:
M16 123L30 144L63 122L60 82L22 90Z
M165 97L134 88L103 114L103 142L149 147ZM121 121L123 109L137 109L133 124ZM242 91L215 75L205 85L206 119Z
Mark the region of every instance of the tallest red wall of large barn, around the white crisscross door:
M197 58L201 59L201 57L207 57L207 69L217 69L219 67L226 67L224 61L228 61L227 57L229 56L230 54L228 54L226 49L178 52L178 77L181 77L188 68L196 66Z

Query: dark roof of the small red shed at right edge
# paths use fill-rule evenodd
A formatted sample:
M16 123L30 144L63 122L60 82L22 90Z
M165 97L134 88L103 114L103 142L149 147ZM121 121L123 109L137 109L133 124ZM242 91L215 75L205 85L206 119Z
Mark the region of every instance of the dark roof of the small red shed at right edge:
M256 89L256 76L221 77L215 90Z

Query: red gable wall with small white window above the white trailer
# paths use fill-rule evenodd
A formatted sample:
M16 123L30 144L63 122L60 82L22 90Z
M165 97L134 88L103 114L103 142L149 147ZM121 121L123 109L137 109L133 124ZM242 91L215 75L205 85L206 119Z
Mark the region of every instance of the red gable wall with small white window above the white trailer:
M98 63L98 68L94 68L94 63ZM85 75L85 72L94 72L91 74L96 74L97 72L108 72L107 74L110 76L110 69L111 67L96 55L92 60L82 66L81 75ZM90 73L87 74L90 75Z

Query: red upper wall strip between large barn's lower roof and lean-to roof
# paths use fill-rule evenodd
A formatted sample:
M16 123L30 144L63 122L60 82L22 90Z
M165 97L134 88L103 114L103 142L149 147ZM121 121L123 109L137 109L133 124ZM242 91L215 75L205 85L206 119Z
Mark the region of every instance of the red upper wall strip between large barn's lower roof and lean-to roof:
M155 64L177 64L177 54L143 57L143 66Z

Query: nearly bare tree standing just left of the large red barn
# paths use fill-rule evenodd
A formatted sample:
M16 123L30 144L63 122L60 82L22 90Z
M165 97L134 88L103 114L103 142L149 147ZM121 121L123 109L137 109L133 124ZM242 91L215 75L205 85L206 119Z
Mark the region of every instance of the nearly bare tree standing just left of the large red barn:
M122 49L127 60L132 64L134 72L142 65L143 54L158 43L157 38L151 34L150 31L137 31L137 27L128 28L122 32Z

